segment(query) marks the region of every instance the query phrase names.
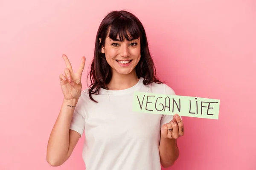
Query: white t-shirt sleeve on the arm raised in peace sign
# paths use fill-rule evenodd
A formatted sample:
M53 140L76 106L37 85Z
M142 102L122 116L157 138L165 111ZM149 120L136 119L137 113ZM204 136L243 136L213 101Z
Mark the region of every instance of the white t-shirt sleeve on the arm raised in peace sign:
M74 110L73 117L70 123L70 129L80 133L81 136L84 132L85 127L85 114L82 106L83 99L80 97L76 104L76 108Z

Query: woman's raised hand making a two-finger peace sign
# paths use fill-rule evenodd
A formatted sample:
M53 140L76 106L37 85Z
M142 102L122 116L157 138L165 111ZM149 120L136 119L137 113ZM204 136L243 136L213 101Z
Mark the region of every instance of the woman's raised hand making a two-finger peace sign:
M73 72L69 59L65 54L62 55L67 68L64 69L64 74L60 74L61 90L64 99L79 99L81 96L81 76L84 70L85 57L82 57L81 65L76 73Z

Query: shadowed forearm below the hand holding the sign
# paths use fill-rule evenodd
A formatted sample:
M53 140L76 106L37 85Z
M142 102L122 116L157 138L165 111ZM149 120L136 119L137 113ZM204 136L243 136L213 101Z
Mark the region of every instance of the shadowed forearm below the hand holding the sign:
M177 139L164 138L161 134L159 154L164 168L172 166L179 156Z

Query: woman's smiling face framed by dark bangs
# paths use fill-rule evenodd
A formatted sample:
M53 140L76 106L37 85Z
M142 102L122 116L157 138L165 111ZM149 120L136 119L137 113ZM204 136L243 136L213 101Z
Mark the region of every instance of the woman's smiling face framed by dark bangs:
M117 37L117 40L120 40ZM108 36L102 47L106 60L112 68L113 74L130 74L140 61L140 38L127 41L114 41Z

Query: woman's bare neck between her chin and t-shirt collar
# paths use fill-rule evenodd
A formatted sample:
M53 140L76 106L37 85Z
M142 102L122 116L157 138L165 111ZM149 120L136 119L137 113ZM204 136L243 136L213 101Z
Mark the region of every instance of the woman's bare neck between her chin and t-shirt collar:
M109 90L124 90L136 85L138 81L139 78L135 71L132 71L130 74L113 73L108 88Z

